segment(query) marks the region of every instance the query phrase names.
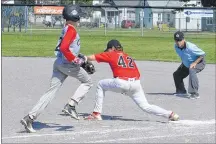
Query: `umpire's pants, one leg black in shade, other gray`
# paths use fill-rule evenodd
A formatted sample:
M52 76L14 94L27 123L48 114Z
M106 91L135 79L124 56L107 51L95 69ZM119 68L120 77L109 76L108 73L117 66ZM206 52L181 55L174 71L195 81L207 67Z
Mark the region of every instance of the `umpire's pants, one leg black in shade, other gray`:
M176 86L177 93L186 92L183 79L189 75L188 93L198 93L199 80L197 73L201 72L205 68L205 59L196 65L195 68L187 68L184 64L181 64L178 69L173 73L173 78Z

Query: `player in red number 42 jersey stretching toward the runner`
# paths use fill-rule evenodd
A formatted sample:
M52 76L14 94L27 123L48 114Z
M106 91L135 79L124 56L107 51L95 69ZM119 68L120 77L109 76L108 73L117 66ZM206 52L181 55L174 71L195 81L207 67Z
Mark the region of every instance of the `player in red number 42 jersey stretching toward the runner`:
M87 59L109 63L114 78L103 79L98 82L94 111L85 118L86 120L102 120L102 104L106 91L124 93L130 96L147 113L163 116L172 121L179 119L176 113L148 103L140 84L140 73L136 63L128 54L123 52L123 47L118 40L109 41L103 53L87 56Z

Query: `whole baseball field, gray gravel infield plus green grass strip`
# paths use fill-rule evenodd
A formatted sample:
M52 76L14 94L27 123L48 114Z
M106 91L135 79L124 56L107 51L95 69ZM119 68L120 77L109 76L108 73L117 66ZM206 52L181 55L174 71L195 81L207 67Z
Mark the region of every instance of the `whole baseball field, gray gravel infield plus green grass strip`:
M173 72L180 65L173 33L145 31L80 30L81 52L103 51L110 39L118 39L137 60L141 85L150 104L176 112L179 121L143 112L130 97L107 92L103 121L86 121L94 107L96 85L111 78L108 64L93 62L94 86L79 103L81 120L62 113L80 82L68 77L50 105L33 123L36 133L26 133L20 120L49 88L53 50L60 30L2 33L2 143L215 143L215 34L186 33L186 39L206 52L207 65L198 74L200 98L174 96ZM154 60L154 61L153 61ZM165 62L166 61L166 62ZM184 79L185 87L188 78Z

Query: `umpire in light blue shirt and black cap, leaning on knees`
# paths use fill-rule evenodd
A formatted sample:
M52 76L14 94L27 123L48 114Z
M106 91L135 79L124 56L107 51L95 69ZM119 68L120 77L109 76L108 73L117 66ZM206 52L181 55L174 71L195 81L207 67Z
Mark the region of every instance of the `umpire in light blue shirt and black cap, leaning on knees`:
M195 44L185 41L184 34L177 31L174 34L175 50L181 58L182 64L173 73L176 96L186 96L191 99L199 98L199 81L197 73L205 68L205 52ZM189 75L188 93L183 79Z

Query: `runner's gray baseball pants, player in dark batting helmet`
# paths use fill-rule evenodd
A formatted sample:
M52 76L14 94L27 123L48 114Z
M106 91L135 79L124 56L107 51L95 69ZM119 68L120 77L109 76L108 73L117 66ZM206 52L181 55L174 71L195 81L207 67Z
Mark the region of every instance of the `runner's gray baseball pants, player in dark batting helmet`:
M29 112L30 117L36 119L38 115L40 115L40 113L55 97L56 92L68 76L72 76L81 82L81 85L71 97L71 99L77 103L84 98L85 94L93 86L91 77L82 67L72 63L63 63L61 59L56 59L53 64L53 74L50 82L50 88Z

